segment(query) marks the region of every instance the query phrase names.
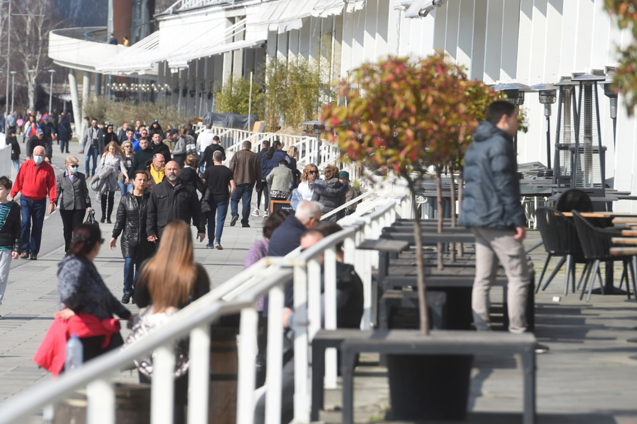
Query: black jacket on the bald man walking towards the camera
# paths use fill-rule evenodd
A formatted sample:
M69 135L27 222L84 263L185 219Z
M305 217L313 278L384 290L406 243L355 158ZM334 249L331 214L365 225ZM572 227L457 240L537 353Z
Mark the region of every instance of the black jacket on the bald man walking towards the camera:
M175 187L168 179L153 188L148 200L146 232L148 236L161 237L164 227L174 220L182 220L205 232L206 225L201 216L197 191L190 185L177 181Z

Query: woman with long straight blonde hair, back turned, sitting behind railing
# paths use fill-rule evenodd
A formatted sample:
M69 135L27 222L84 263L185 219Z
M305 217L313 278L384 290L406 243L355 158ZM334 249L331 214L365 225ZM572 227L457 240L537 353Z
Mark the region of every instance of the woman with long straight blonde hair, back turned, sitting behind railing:
M166 225L159 250L144 262L132 295L140 312L127 343L168 319L179 309L210 291L210 279L203 266L194 260L190 225L173 221ZM174 422L184 422L188 393L188 347L183 341L176 346ZM152 355L139 362L140 383L150 383Z

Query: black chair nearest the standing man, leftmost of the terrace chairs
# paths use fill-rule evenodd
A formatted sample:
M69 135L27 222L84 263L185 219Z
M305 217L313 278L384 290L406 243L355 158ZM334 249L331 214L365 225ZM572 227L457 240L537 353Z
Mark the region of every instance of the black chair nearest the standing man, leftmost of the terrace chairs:
M568 216L562 215L560 211L552 208L538 208L535 211L535 219L538 223L538 229L544 242L544 248L547 251L547 260L544 263L538 286L535 292L540 291L540 286L544 274L547 271L548 262L553 257L561 257L553 272L551 272L546 283L542 287L542 290L546 290L549 283L555 277L555 274L562 268L564 262L566 262L566 278L564 279L564 295L568 292L568 283L572 281L573 293L575 293L575 265L585 264L582 271L582 277L580 277L580 284L585 272L592 264L584 257L582 251L582 244L577 236L577 230L573 220Z

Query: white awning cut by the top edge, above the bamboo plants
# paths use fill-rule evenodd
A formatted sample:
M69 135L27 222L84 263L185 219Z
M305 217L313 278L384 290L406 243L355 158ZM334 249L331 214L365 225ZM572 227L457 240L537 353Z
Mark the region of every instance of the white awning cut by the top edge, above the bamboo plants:
M361 10L364 0L279 0L262 4L261 8L248 16L248 25L261 27L279 34L303 26L303 18L329 17L343 11Z

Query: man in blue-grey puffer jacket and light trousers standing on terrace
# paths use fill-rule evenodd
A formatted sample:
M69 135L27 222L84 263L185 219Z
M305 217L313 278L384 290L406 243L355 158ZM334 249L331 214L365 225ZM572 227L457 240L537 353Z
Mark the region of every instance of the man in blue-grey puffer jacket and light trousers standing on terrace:
M513 136L517 109L496 101L487 108L474 141L464 155L464 199L459 225L476 236L476 276L471 308L478 331L489 330L489 290L496 279L497 261L508 278L509 331L526 330L526 298L531 283L522 241L526 216L520 203Z

